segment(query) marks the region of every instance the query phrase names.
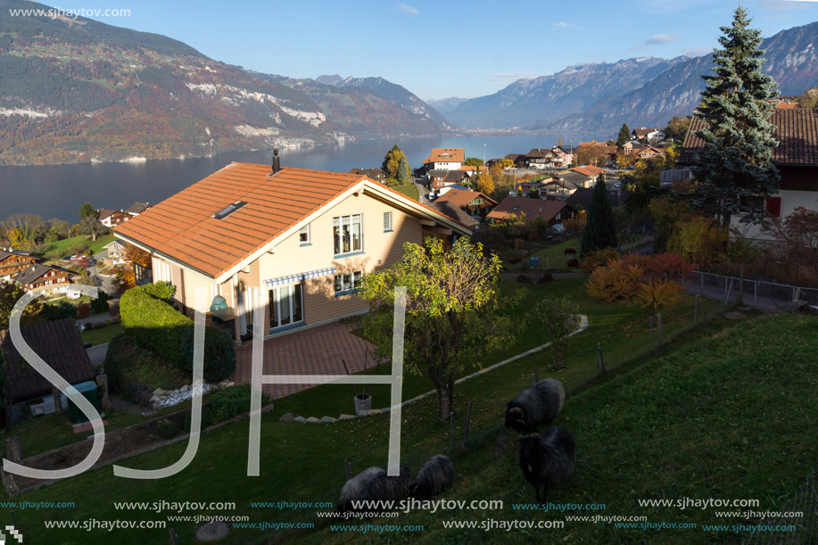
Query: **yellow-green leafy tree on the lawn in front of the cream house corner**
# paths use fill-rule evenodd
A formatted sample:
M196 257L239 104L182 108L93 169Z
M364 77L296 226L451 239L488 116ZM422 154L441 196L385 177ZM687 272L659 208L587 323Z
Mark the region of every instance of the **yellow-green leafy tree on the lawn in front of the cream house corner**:
M364 331L382 353L392 353L394 288L406 286L404 366L428 377L437 392L438 417L449 417L455 381L480 365L486 351L508 344L511 320L500 313L500 259L460 238L447 251L442 240L406 243L403 259L364 277L359 295L370 310Z

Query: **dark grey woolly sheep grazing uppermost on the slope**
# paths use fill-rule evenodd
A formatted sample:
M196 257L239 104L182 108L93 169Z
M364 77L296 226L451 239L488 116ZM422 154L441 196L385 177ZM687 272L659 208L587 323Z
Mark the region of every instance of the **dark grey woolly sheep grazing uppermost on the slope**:
M549 425L562 409L566 389L556 378L543 378L520 392L506 404L506 427L516 432L536 431L541 424Z

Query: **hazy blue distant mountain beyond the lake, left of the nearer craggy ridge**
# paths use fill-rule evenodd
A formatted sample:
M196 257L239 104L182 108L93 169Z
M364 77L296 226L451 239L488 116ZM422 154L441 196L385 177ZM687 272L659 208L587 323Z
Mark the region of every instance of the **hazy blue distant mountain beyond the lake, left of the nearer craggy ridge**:
M467 128L512 128L523 127L532 120L558 120L566 114L585 111L600 98L638 89L687 59L640 57L613 64L569 66L550 76L518 79L494 95L459 103L446 117Z

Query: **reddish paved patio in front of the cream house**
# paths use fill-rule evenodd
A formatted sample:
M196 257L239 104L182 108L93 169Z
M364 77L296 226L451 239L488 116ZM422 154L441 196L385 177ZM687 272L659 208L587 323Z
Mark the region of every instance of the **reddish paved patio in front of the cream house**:
M352 334L354 326L335 322L312 327L264 342L264 375L346 375L344 359L350 373L364 368L374 345ZM252 341L235 348L235 384L249 384L252 378ZM265 384L264 392L277 400L301 392L316 384Z

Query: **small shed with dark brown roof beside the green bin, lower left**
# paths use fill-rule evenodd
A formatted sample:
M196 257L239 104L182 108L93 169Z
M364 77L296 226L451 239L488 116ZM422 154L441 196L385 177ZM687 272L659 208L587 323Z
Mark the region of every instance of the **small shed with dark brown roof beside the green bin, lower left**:
M21 326L20 332L29 347L70 384L95 379L91 361L71 318ZM0 354L3 355L9 398L9 414L0 417L0 424L3 421L17 424L30 416L53 413L55 397L62 397L58 402L66 407L65 396L55 396L54 386L21 358L8 331L0 331Z

